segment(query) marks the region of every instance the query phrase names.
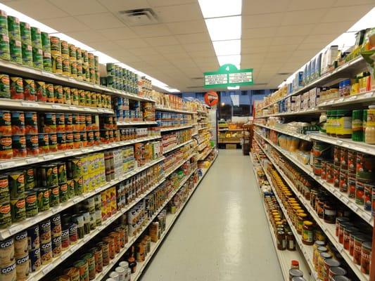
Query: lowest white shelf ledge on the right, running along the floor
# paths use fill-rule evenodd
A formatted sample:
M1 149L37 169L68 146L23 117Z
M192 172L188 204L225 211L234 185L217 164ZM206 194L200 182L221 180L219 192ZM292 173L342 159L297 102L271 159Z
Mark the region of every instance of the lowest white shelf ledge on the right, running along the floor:
M251 152L250 152L250 157L252 159L254 158L253 155L251 154ZM252 160L252 162L253 162L253 160ZM263 206L263 209L265 211L265 216L267 217L266 221L268 223L269 232L271 233L272 242L274 243L274 249L275 249L276 254L277 254L277 259L279 259L281 273L283 273L284 280L289 280L289 269L291 268L291 261L292 260L300 261L300 270L302 270L303 273L307 273L308 270L307 270L307 267L305 266L303 254L300 251L298 251L298 248L295 251L288 251L288 250L280 251L279 249L277 249L277 241L276 241L276 237L274 235L274 229L272 228L272 225L271 225L270 220L269 220L269 216L267 214L267 209L265 207L265 202L264 202L264 199L263 199L262 190L260 189L260 184L258 182L258 176L257 176L257 173L255 171L254 165L253 165L253 172L254 172L254 176L255 176L256 181L257 181L258 190L259 190L259 193L260 193L260 198L262 200L262 206ZM302 263L301 263L301 260L303 261Z

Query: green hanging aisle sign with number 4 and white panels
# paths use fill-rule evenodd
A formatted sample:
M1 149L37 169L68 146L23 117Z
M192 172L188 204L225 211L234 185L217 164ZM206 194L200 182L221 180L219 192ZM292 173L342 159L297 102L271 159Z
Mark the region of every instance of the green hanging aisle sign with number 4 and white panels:
M205 88L253 85L253 68L238 70L236 65L222 65L214 72L204 72Z

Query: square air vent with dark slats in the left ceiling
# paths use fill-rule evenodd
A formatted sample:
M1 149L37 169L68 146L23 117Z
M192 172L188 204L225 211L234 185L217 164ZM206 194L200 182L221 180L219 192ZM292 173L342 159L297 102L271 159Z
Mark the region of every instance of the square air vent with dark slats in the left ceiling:
M151 8L119 11L120 20L129 26L155 25L159 22L158 16Z

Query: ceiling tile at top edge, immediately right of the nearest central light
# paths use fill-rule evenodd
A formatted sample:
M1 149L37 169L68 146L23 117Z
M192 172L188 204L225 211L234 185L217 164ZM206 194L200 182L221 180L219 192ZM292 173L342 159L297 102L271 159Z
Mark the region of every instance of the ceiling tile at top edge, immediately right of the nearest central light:
M290 0L243 1L242 15L284 12Z

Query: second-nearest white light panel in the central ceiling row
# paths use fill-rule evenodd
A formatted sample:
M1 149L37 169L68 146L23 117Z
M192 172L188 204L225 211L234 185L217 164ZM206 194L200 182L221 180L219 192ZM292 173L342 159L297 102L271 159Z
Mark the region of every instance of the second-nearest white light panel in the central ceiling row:
M241 39L241 15L205 20L211 41Z

